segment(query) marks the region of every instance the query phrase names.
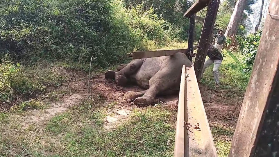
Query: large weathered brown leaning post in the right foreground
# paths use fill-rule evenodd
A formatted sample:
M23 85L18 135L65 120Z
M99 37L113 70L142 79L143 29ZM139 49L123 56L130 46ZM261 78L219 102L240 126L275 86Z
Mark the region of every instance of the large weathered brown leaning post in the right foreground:
M271 0L270 14L279 15ZM267 15L229 157L279 156L279 18Z

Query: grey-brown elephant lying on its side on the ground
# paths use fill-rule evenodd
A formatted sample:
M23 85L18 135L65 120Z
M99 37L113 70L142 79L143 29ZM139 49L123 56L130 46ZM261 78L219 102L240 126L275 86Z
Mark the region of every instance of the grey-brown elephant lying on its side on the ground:
M119 66L119 72L107 71L105 79L114 79L120 86L131 81L146 89L141 92L126 92L125 97L134 100L137 106L147 106L153 103L158 94L174 94L179 91L183 65L192 66L184 53L135 59L128 65Z

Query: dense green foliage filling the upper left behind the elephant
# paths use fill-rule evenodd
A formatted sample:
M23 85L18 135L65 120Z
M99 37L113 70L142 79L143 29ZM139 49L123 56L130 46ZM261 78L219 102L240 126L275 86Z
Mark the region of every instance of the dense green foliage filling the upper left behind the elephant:
M1 1L1 56L88 61L93 55L102 67L121 62L127 52L151 49L175 36L171 24L142 7L126 9L114 0Z

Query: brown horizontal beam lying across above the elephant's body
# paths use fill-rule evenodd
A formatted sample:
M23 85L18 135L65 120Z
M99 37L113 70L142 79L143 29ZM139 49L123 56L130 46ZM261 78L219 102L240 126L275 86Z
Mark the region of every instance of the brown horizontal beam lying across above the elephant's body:
M185 53L189 52L188 49L176 49L176 50L159 50L159 51L137 51L133 52L133 59L141 58L151 58L151 57L160 57L160 56L170 56L174 53Z

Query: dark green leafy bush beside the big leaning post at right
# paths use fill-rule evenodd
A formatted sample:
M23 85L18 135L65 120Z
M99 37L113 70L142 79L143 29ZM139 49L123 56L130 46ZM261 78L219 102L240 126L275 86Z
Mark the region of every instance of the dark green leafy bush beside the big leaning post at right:
M246 56L244 60L246 64L246 69L245 69L246 72L251 71L253 67L256 53L260 44L261 35L262 35L262 31L258 31L255 34L250 34L245 38L242 38L241 36L237 36L237 40L239 42L239 48Z

